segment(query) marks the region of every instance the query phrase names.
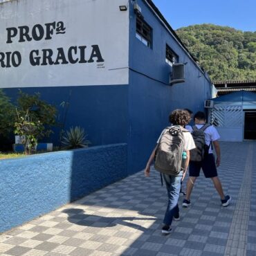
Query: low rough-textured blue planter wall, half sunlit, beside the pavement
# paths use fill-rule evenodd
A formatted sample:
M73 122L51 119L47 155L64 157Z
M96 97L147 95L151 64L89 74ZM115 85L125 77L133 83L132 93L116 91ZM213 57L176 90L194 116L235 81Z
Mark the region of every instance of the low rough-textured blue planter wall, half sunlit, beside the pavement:
M0 232L127 176L127 144L0 162Z

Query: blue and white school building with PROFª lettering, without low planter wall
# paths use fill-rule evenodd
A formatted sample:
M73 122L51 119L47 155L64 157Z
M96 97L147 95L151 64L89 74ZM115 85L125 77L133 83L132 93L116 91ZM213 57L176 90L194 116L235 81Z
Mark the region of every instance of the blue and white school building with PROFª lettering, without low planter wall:
M0 87L41 93L91 145L127 143L141 170L168 115L202 110L212 82L150 0L0 3ZM57 143L58 132L51 138Z

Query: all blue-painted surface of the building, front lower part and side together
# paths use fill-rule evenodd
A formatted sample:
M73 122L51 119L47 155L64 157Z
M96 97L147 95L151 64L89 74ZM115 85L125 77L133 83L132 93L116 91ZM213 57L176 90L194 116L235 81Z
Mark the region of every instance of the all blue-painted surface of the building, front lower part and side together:
M127 143L128 173L145 167L147 158L161 130L169 125L170 111L176 108L203 109L203 101L211 98L211 84L207 76L192 61L181 45L161 24L144 0L137 1L142 14L153 29L152 48L136 38L136 15L129 10L129 84L102 86L61 86L23 89L39 92L42 98L55 104L71 93L66 129L84 127L92 145ZM130 1L131 3L131 1ZM168 85L171 67L165 62L165 45L179 55L185 65L185 82ZM17 89L6 89L16 97ZM53 142L57 143L59 130L55 129ZM51 139L45 142L52 142Z

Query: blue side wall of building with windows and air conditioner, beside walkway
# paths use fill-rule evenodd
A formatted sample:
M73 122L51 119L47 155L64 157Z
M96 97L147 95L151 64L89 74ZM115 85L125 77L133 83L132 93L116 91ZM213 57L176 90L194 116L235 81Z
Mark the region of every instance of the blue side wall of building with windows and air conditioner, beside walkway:
M211 83L170 35L143 0L137 1L144 20L152 27L152 47L136 38L136 15L130 9L129 35L129 138L128 170L136 172L145 167L161 130L169 125L170 111L189 108L203 109L205 99L211 98ZM185 82L167 85L171 67L165 62L165 45L179 55L185 65Z

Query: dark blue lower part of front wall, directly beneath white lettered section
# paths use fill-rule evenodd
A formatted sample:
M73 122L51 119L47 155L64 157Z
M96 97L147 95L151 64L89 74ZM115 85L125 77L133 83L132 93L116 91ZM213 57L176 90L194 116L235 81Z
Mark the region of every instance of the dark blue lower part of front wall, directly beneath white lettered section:
M12 98L17 98L18 89L4 89ZM106 145L127 142L128 102L127 85L112 86L60 86L22 88L26 93L41 93L41 98L58 109L57 120L62 121L64 109L61 102L69 101L66 129L84 127L91 145ZM48 141L58 143L60 129Z

